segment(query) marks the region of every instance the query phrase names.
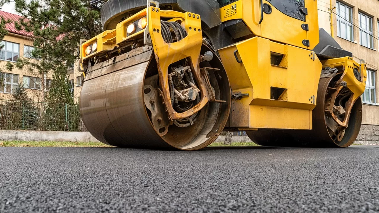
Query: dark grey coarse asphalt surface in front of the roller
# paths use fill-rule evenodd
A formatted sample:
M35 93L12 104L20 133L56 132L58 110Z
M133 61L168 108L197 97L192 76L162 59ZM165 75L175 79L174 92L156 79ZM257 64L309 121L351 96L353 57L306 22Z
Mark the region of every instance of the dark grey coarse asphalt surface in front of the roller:
M379 212L379 146L0 147L0 212Z

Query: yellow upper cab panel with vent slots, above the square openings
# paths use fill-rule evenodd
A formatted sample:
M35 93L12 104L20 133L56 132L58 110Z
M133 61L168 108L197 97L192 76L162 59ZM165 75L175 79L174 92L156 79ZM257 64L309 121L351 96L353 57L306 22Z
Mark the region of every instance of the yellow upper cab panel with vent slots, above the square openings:
M259 24L261 19L260 0L239 0L222 7L220 9L221 21L242 19L255 36L308 50L312 50L318 44L317 1L305 0L305 7L308 11L305 22L282 13L271 4L271 1L263 0L263 4L270 5L272 12L270 14L263 13L261 24ZM304 30L302 24L308 24L309 31ZM303 40L309 40L310 46L305 46Z

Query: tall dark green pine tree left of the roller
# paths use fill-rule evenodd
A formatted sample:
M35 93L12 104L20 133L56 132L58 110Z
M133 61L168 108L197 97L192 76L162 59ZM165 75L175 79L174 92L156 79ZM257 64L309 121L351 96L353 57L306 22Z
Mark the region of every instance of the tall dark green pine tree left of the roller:
M102 31L100 12L88 0L14 0L23 19L18 30L33 33L31 52L38 60L20 59L8 69L27 67L39 74L53 75L47 102L73 103L67 82L67 66L78 61L80 39L90 39Z

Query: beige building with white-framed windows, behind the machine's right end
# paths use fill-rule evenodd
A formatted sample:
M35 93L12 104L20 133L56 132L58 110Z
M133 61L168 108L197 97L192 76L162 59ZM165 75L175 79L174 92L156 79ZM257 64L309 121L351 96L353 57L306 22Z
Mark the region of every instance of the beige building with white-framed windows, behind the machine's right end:
M358 141L379 141L379 1L318 0L319 27L332 34L354 60L367 64L366 90L362 95L363 121ZM330 15L332 21L330 20Z

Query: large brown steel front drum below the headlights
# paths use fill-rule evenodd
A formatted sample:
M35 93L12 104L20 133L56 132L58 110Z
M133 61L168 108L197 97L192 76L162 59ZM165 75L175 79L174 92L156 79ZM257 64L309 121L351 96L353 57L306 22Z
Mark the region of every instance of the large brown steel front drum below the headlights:
M211 50L203 46L201 55L207 51ZM96 139L117 147L197 150L208 146L225 127L231 102L229 80L214 55L211 61L201 62L200 68L216 68L208 77L215 97L222 102L208 102L192 125L167 123L150 46L89 68L79 103L84 124Z

